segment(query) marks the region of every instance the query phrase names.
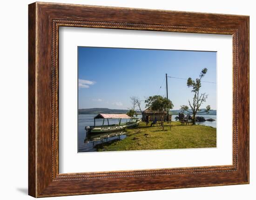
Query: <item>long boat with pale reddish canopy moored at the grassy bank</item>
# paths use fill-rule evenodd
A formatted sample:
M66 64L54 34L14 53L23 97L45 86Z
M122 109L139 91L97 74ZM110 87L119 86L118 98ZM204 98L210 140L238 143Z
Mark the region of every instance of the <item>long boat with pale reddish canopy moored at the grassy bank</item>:
M95 126L95 120L96 119L103 119L102 125L101 126ZM108 121L108 125L104 125L105 119ZM118 124L109 124L108 119L118 119ZM129 122L126 123L121 123L121 119L129 119ZM98 114L97 116L94 117L94 126L92 127L85 127L86 131L88 134L93 134L93 133L106 133L106 132L114 132L114 131L119 131L123 130L126 128L133 128L139 125L141 122L141 118L132 118L126 114Z

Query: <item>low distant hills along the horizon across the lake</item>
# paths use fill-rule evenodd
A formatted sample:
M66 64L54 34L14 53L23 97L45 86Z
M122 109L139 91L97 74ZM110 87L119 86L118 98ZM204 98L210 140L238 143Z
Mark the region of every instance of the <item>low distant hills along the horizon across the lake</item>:
M202 109L204 110L204 109ZM78 109L78 115L97 115L99 113L108 113L108 114L125 114L128 110L121 110L121 109L108 109L108 108L88 108L88 109ZM140 110L136 110L137 115L141 115ZM170 114L178 115L180 110L170 110ZM209 114L207 113L200 113L198 115L216 115L216 110L210 110ZM185 111L185 115L190 114L189 112Z

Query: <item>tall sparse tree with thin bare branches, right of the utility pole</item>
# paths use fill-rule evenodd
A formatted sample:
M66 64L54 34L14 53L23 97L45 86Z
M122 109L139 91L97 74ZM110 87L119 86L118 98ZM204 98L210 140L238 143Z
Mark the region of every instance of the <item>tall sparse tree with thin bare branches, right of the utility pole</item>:
M195 124L195 115L196 114L204 113L204 112L209 113L209 110L211 109L211 107L208 105L208 106L206 106L206 109L204 111L200 110L202 103L206 102L206 99L208 97L208 95L205 93L202 93L199 95L199 90L201 88L201 79L202 79L202 77L205 76L206 73L207 73L207 68L204 68L204 69L202 69L202 71L199 75L199 78L196 78L195 80L192 80L191 77L188 78L187 86L189 88L192 88L191 92L194 93L194 98L193 98L192 103L189 101L189 106L182 105L181 110L187 111L193 115L193 118L192 118L193 124ZM192 110L192 112L189 111L189 107Z

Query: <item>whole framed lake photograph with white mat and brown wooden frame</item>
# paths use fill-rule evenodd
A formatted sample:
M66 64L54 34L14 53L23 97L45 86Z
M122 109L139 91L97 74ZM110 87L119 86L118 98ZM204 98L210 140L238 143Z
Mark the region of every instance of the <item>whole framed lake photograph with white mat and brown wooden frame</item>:
M249 183L249 16L28 14L29 195Z

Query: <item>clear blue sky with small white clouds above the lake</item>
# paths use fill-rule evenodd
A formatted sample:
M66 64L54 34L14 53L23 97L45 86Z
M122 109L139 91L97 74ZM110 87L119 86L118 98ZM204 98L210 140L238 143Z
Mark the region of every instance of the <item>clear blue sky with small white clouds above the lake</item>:
M78 47L78 107L127 109L135 96L144 109L147 97L166 96L166 73L194 79L205 67L202 81L216 82L216 52ZM216 109L216 84L202 82L204 92L202 108ZM193 93L187 80L168 78L168 98L174 109L189 105Z

